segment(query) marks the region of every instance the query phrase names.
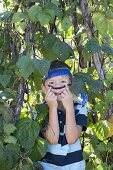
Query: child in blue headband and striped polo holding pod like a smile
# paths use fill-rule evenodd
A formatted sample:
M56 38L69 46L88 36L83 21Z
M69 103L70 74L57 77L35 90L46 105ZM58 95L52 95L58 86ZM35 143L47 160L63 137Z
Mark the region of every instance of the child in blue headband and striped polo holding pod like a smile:
M55 60L42 85L49 108L48 125L43 132L48 151L40 161L44 170L85 170L79 137L86 130L87 110L73 102L71 80L69 67Z

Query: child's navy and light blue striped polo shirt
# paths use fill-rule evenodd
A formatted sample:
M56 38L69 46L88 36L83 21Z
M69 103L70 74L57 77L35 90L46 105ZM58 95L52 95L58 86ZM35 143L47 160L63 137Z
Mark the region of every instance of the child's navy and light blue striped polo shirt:
M84 105L74 103L75 121L77 125L87 126L87 109ZM48 151L40 163L44 170L85 170L80 139L74 144L68 144L65 136L66 114L58 110L60 127L58 144L49 144Z

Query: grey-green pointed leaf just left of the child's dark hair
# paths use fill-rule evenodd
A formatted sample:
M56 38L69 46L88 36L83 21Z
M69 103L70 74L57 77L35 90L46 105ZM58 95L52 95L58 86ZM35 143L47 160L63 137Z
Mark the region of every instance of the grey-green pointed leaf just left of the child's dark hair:
M50 67L50 62L47 60L40 60L40 59L33 59L33 64L35 66L35 68L38 70L38 72L42 75L42 76L46 76L47 75L47 71Z

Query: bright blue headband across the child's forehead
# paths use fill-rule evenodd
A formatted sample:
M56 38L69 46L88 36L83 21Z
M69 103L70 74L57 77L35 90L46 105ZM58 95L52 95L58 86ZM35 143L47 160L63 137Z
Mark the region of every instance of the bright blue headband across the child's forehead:
M68 68L58 68L50 70L48 75L44 78L44 81L56 76L71 76L70 70Z

